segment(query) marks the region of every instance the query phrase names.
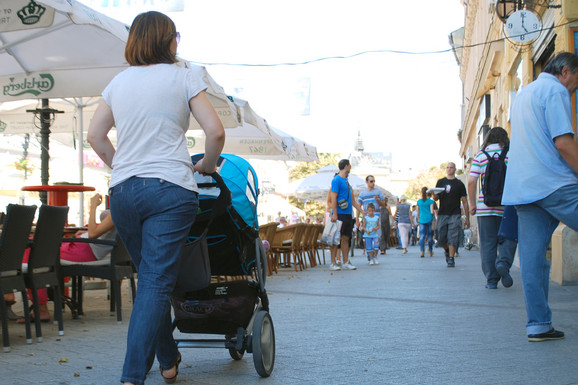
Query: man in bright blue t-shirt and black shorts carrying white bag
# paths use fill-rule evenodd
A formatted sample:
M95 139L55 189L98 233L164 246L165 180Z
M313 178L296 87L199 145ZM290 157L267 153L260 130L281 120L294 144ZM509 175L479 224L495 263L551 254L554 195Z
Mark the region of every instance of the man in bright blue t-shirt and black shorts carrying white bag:
M362 211L361 206L353 195L353 189L347 181L351 164L348 159L339 161L339 173L331 181L331 192L329 194L329 204L331 207L331 221L340 220L341 225L341 255L343 256L343 265L337 265L337 245L331 246L331 266L330 270L355 270L357 267L349 262L349 248L351 246L351 236L353 235L353 206L357 210L357 216ZM356 220L357 221L357 220ZM359 221L357 221L359 227Z

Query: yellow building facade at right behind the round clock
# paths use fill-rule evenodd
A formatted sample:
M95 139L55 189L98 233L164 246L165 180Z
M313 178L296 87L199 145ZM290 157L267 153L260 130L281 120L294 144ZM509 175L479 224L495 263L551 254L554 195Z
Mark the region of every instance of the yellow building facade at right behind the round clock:
M510 132L510 108L517 93L537 78L555 54L578 53L578 0L461 2L464 27L450 34L450 43L460 65L463 84L462 127L458 137L463 169L467 172L491 127L501 126ZM510 17L517 11L531 13L522 17L526 17L526 25L520 24L523 31L530 29L530 33L522 33L524 36L516 33L515 17ZM537 21L529 26L530 19ZM576 95L572 95L572 107L576 132ZM555 263L564 264L556 262L556 258L578 260L578 256L570 256L569 250L563 247L553 244L552 250L553 271ZM555 250L561 255L554 255ZM563 274L567 273L574 274L569 271ZM552 278L578 283L578 271L575 278Z

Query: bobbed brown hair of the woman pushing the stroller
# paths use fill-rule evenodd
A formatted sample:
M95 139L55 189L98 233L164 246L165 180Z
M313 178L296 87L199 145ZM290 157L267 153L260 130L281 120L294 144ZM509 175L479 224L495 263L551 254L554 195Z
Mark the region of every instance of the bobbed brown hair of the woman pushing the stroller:
M124 57L131 66L177 62L171 43L177 36L175 23L155 11L139 14L130 27Z

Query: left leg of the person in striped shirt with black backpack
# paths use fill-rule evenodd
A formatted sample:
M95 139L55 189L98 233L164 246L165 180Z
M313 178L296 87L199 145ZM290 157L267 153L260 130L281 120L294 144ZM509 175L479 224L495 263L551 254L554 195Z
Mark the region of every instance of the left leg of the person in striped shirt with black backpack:
M480 232L480 257L482 260L482 272L486 277L486 284L497 287L500 274L496 270L496 258L498 256L498 229L502 217L496 215L480 215L478 230Z

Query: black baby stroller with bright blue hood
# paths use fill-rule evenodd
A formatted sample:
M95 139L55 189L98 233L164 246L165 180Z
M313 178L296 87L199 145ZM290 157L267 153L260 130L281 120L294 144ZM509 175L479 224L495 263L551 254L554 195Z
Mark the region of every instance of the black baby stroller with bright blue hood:
M202 157L193 155L191 160ZM208 255L211 282L187 289L181 265L171 297L173 327L181 333L224 338L175 339L179 348L224 347L234 360L252 353L257 373L268 377L275 362L275 332L265 290L267 259L257 224L257 175L246 160L222 154L216 173L196 173L195 179L199 212L189 240L204 244L206 239L201 254Z

